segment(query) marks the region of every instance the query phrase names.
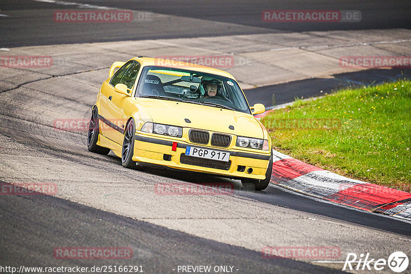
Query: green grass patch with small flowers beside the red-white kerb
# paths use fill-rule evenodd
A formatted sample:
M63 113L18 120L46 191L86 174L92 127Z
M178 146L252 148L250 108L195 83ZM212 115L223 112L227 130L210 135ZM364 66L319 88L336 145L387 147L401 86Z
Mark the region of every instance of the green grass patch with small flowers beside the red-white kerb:
M410 191L411 82L296 100L261 119L274 149L345 175Z

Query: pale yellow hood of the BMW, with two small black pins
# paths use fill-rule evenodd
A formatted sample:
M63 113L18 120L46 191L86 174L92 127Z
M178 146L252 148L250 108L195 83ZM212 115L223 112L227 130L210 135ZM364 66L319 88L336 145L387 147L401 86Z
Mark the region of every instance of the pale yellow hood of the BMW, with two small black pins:
M139 107L150 114L154 123L264 138L263 129L251 114L160 99L139 98L137 101ZM185 122L185 119L191 123ZM234 130L230 129L230 126L233 126Z

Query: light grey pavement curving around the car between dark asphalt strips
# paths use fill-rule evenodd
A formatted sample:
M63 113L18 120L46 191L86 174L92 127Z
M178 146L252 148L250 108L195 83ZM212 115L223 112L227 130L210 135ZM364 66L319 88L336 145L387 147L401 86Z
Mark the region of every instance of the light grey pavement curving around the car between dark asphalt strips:
M2 49L1 56L51 56L52 66L0 67L0 180L52 182L58 186L58 198L258 252L265 246L338 246L341 258L367 250L378 250L379 258L388 258L399 247L409 254L409 237L236 193L157 195L155 184L181 183L181 178L124 169L113 154L88 152L85 131L53 128L55 119L88 120L109 66L136 55L232 55L238 65L225 70L242 88L254 88L359 71L339 66L341 56L354 53L409 56L409 38L411 31L391 29Z

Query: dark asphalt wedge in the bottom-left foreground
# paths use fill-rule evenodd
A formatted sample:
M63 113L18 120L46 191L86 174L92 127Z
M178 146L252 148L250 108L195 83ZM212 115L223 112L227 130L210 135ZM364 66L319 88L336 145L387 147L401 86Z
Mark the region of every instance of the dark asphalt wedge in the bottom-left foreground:
M171 273L177 265L204 264L231 265L240 269L238 272L247 273L335 273L291 259L267 261L257 251L193 237L50 196L6 197L1 204L3 265L53 266L57 260L45 255L56 245L91 245L133 247L133 259L126 263L142 265L146 273ZM25 252L28 248L29 252ZM110 264L110 260L99 260L99 265ZM75 265L92 267L95 263L78 260Z

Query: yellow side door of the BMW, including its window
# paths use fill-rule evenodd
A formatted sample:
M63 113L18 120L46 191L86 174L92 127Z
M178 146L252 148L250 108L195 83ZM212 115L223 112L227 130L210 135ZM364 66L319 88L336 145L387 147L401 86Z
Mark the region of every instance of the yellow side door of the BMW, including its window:
M102 95L106 100L105 104L101 105L100 114L104 119L103 135L111 141L122 145L124 137L124 127L126 117L124 117L123 108L127 100L130 98L127 95L117 93L114 87L117 84L125 84L130 90L130 95L136 81L137 74L140 70L140 63L137 61L129 61L114 73L111 80L105 82L102 87Z

